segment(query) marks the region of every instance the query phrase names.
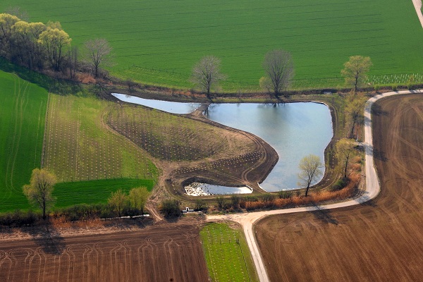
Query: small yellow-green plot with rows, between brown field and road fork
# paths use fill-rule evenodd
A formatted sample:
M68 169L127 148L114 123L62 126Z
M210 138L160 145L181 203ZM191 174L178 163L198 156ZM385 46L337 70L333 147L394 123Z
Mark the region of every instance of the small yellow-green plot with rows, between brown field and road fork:
M258 281L243 231L210 223L200 231L212 281Z

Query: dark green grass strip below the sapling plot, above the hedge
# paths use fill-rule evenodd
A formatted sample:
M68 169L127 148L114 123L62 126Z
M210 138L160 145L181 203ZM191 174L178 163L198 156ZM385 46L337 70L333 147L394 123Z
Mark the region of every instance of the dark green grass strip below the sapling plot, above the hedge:
M104 203L107 202L107 198L111 195L111 192L122 189L123 192L128 193L130 189L141 186L151 191L154 181L122 178L57 183L53 191L53 195L56 197L55 207L69 207L82 203Z

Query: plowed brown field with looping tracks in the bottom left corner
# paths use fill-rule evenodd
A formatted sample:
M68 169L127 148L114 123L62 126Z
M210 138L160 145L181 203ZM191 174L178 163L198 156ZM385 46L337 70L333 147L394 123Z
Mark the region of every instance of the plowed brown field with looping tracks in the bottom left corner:
M0 281L208 281L199 229L142 231L0 244Z

